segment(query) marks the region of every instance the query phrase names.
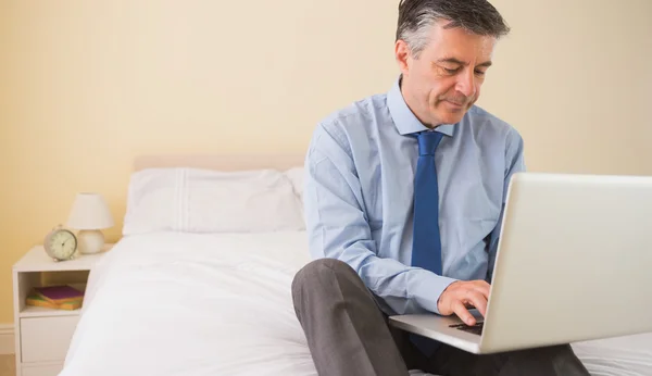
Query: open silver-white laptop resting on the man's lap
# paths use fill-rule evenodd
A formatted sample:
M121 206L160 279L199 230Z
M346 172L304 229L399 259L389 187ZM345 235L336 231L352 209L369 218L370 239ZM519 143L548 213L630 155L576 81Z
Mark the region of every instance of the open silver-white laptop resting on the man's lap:
M486 354L652 331L652 177L518 173L482 317L390 325Z

